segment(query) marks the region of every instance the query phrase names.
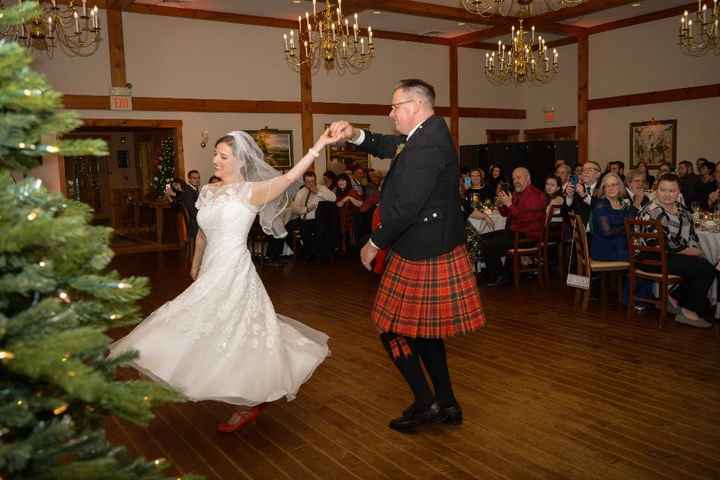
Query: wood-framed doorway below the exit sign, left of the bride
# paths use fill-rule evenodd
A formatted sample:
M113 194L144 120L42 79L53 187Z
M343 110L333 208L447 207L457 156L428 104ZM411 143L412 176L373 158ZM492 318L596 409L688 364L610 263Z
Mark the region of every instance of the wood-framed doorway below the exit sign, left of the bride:
M64 138L100 138L108 145L105 157L61 157L61 181L66 196L92 207L93 223L113 228L116 253L179 248L176 212L158 195L153 177L161 142L169 139L174 176L184 178L182 121L84 119Z

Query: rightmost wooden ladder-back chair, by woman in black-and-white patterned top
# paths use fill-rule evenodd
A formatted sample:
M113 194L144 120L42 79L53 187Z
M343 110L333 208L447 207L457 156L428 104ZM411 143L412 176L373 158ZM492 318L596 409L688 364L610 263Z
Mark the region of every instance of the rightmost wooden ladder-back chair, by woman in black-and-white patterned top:
M625 220L625 235L630 252L628 319L632 318L635 311L636 300L652 303L660 310L658 328L662 328L667 317L669 287L682 282L682 277L671 275L667 270L665 230L659 220ZM660 272L655 273L651 270L660 270ZM660 299L636 297L638 278L657 282L660 285Z

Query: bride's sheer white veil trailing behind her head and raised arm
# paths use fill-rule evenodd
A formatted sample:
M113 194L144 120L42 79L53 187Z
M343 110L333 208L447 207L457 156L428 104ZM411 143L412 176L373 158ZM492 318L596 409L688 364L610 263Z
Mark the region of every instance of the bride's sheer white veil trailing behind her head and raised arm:
M215 142L217 147L224 143L233 154L233 172L248 182L262 182L282 175L265 161L265 154L260 150L255 139L242 131L230 132ZM300 188L294 182L282 195L271 200L260 208L260 225L265 233L276 238L287 235L281 214L288 207L290 199Z

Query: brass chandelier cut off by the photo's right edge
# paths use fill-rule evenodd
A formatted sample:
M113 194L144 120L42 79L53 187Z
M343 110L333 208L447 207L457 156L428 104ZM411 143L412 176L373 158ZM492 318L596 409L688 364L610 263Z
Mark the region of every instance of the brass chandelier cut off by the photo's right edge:
M713 1L712 11L698 0L698 11L690 18L685 10L680 16L680 47L684 53L693 56L713 52L720 55L720 7Z

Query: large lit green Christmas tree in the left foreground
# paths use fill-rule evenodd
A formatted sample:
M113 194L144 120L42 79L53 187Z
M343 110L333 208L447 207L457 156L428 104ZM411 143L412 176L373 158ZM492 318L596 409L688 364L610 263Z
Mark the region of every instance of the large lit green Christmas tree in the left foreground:
M0 31L40 13L0 9ZM16 183L42 155L104 155L100 141L55 142L80 125L61 95L30 69L27 51L0 41L0 478L159 479L162 459L133 459L105 438L103 418L135 423L179 399L143 381L115 380L132 355L106 360L104 332L136 322L143 278L108 272L110 231L80 202Z

